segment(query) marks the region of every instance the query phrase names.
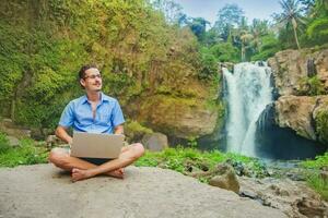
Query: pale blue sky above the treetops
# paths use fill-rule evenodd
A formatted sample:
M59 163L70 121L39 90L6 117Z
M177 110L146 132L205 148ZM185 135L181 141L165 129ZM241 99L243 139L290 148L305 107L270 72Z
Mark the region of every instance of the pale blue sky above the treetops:
M282 11L279 0L174 0L183 7L183 12L191 17L203 17L211 22L216 21L216 14L227 3L236 3L244 10L250 23L253 19L272 20L271 14Z

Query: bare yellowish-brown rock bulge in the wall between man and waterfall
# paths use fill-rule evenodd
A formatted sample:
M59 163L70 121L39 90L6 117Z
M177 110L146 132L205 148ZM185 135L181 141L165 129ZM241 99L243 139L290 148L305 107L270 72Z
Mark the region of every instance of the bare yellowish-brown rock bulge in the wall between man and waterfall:
M167 136L200 137L213 133L219 116L218 109L207 107L203 100L152 96L131 102L127 114Z

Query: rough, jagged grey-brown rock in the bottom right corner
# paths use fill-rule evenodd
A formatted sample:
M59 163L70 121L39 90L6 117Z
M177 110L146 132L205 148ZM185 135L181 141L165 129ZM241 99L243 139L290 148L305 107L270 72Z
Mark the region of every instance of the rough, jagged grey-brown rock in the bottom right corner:
M289 179L239 178L241 193L293 218L326 218L328 205L304 182Z

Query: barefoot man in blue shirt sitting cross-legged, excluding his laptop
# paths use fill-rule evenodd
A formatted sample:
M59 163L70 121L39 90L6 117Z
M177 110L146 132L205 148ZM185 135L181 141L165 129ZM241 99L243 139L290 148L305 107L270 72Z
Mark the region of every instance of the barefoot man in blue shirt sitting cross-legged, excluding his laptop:
M102 74L95 65L84 65L79 72L80 85L86 95L70 101L65 108L56 135L68 144L72 137L67 130L93 133L124 134L124 116L118 101L106 96L102 90ZM94 145L96 146L96 145ZM72 172L72 180L79 181L107 174L124 178L124 168L131 165L144 153L140 143L125 146L117 159L86 159L70 156L69 149L54 148L49 161L57 167Z

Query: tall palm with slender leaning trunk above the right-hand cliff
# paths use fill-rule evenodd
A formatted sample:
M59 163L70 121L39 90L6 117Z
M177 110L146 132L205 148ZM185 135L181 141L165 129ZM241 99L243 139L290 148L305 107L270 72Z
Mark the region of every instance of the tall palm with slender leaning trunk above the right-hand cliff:
M274 14L274 19L279 24L284 25L286 29L292 26L295 43L297 45L297 48L301 49L297 37L297 29L300 24L305 24L304 17L302 15L303 8L301 7L301 1L281 0L279 3L283 9L283 12L281 14Z

